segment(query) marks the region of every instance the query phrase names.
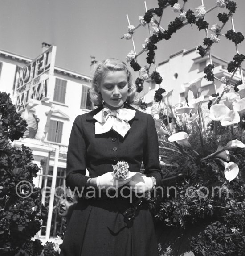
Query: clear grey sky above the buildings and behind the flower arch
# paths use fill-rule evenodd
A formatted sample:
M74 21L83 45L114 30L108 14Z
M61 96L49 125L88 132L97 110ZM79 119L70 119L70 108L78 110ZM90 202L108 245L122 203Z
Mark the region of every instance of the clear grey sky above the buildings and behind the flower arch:
M237 0L234 14L235 31L245 35L245 1ZM179 0L180 5L183 1ZM156 8L157 0L146 0L147 8ZM188 0L185 10L194 10L201 0ZM216 5L216 0L204 0L206 9ZM217 13L227 13L226 8L216 8L206 15L210 26L218 21ZM139 15L144 15L144 0L0 0L0 49L29 58L41 54L41 44L57 46L57 67L90 75L90 56L96 60L114 57L126 60L133 50L130 40L120 39L127 33L128 14L132 25L139 24ZM177 17L172 8L164 10L161 26L167 29L170 21ZM232 29L229 21L222 33ZM136 52L142 50L144 39L149 36L148 28L139 27L133 34ZM195 25L186 25L170 40L158 43L156 63L168 59L169 55L191 49L202 44L205 31ZM238 45L245 55L245 42ZM225 37L212 46L212 54L232 60L235 45ZM146 53L139 57L144 66Z

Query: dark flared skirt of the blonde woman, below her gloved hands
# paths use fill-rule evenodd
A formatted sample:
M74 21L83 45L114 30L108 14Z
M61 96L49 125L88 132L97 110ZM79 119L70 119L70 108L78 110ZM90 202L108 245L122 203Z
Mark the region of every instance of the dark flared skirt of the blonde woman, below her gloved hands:
M128 207L127 201L79 201L66 228L61 256L158 256L147 201L143 199L132 220L121 214Z

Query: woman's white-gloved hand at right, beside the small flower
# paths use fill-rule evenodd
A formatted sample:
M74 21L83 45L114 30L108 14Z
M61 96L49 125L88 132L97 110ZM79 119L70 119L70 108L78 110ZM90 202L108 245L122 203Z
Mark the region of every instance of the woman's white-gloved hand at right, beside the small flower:
M151 178L139 173L135 174L127 183L135 193L145 193L153 188L153 181Z

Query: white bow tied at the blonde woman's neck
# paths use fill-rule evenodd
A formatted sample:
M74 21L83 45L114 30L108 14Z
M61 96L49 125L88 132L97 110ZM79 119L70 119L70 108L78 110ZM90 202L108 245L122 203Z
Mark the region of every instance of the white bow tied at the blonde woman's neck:
M132 109L111 110L103 108L93 117L98 121L95 123L95 134L106 133L113 128L113 130L124 137L130 129L128 121L133 119L134 116L135 110Z

